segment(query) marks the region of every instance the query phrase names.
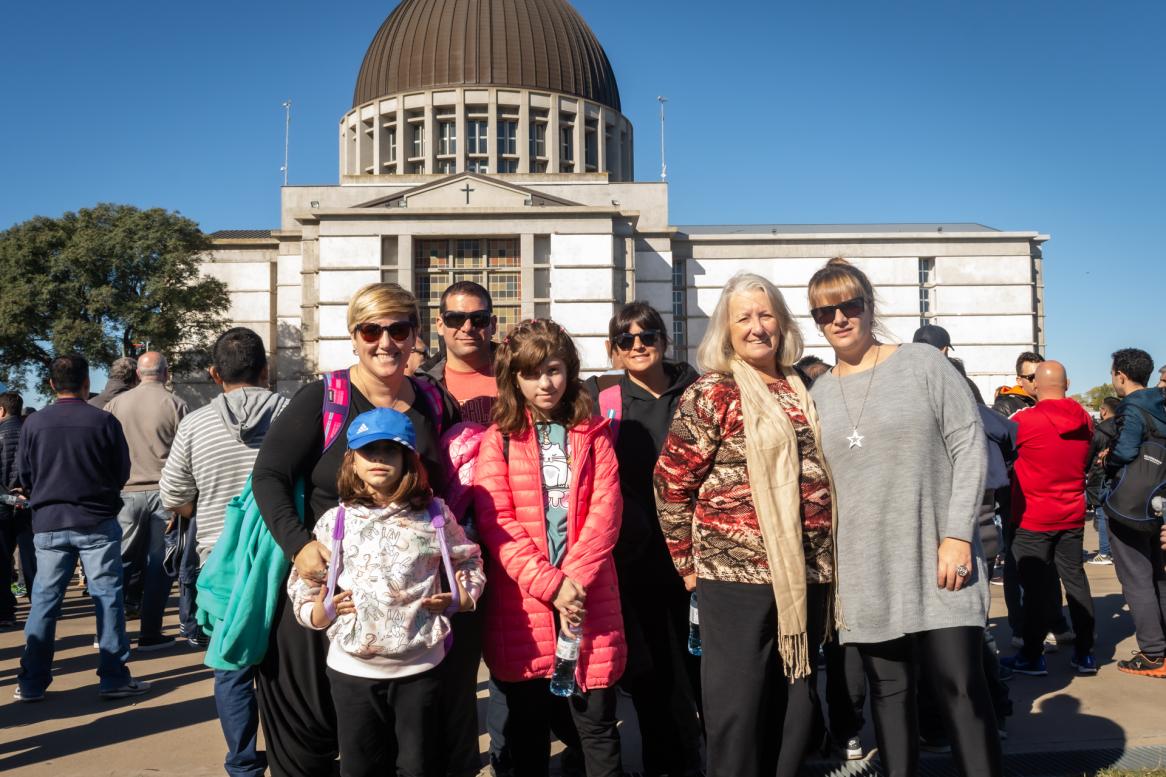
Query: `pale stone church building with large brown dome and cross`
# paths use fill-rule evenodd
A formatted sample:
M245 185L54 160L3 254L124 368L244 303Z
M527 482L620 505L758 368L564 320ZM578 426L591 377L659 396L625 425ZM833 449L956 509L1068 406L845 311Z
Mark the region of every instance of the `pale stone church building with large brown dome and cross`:
M264 336L286 392L351 363L345 306L373 281L416 293L431 348L442 289L472 280L501 331L550 316L598 371L607 320L631 300L655 306L675 357L693 360L722 286L747 270L782 289L807 351L831 360L805 289L841 256L870 274L894 336L947 328L986 397L1013 383L1020 351L1044 348L1046 235L674 224L668 184L634 180L634 148L611 63L566 0L401 0L339 118L339 182L283 187L279 226L212 235L205 272L227 284L232 322Z

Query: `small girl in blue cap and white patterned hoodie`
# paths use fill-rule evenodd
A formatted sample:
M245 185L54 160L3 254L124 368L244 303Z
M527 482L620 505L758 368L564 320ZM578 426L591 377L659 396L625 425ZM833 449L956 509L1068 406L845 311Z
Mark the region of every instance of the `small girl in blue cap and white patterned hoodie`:
M328 582L293 568L288 595L302 625L328 630L344 777L431 775L449 616L477 606L482 553L434 497L408 416L361 413L347 440L340 504L312 530L331 548Z

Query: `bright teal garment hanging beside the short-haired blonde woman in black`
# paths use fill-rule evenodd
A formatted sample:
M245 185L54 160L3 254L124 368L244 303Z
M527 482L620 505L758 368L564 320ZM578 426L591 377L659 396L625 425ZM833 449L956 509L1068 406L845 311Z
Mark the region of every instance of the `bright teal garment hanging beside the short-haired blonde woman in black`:
M295 484L295 506L302 519L302 480ZM241 670L264 660L290 569L259 513L248 477L243 494L227 504L223 534L198 573L196 618L211 638L206 666Z

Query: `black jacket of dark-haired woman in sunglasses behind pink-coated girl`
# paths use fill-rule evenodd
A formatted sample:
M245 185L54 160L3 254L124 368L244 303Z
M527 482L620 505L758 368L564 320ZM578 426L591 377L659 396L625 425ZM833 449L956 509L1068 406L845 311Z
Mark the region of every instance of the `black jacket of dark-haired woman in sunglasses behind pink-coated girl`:
M700 374L684 362L665 362L668 388L659 398L632 383L625 373L619 378L621 399L616 459L619 460L619 488L624 495L624 520L616 541L616 565L620 581L663 580L675 576L656 516L652 473L660 449L668 436L672 416L681 394ZM584 384L598 413L599 382Z

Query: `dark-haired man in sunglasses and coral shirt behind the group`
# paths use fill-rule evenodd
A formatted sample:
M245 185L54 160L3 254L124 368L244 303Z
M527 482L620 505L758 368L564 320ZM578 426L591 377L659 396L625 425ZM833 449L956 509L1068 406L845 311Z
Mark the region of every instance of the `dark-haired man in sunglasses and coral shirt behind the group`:
M473 281L448 287L441 295L436 327L442 355L419 372L454 398L463 421L489 426L498 398L493 343L498 317L490 292Z

